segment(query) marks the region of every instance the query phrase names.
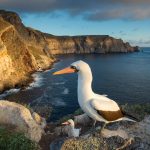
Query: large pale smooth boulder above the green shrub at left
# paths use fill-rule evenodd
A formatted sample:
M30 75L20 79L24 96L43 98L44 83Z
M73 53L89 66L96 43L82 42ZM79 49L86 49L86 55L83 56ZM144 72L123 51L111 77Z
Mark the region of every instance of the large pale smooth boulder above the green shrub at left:
M37 113L31 112L18 103L0 100L0 125L13 126L33 141L39 142L46 121Z

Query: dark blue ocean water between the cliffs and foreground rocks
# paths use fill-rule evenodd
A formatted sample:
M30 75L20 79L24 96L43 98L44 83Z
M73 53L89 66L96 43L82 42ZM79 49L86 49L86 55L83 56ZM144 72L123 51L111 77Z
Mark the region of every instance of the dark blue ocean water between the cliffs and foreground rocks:
M26 89L11 89L1 99L53 107L49 121L74 112L77 100L77 74L53 76L52 73L83 60L93 72L93 91L108 95L119 104L150 103L150 48L142 52L119 54L68 54L58 56L51 70L33 74L35 82Z

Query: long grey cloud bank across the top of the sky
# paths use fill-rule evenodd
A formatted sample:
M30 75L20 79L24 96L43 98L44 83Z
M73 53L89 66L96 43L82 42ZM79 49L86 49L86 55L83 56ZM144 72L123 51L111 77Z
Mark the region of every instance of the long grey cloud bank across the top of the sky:
M91 21L150 19L149 0L0 0L0 8L36 14L63 11Z

